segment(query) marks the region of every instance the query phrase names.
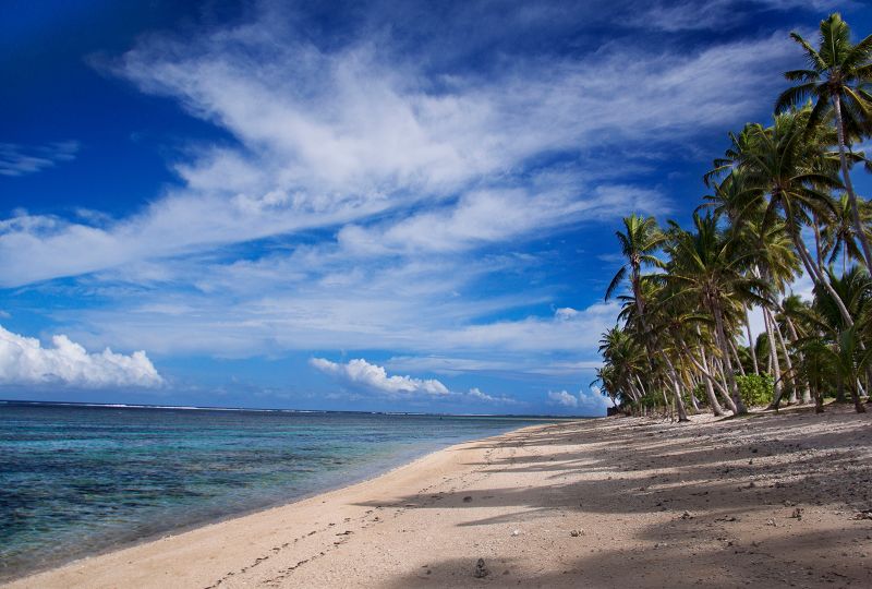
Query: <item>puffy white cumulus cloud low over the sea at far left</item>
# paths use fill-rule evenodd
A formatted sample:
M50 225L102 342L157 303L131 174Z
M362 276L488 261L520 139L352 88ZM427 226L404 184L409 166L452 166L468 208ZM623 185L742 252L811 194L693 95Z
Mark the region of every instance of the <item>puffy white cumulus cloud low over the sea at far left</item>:
M125 356L106 348L88 353L65 335L53 336L51 342L52 347L44 348L38 339L0 326L0 384L95 388L157 387L164 383L144 351Z

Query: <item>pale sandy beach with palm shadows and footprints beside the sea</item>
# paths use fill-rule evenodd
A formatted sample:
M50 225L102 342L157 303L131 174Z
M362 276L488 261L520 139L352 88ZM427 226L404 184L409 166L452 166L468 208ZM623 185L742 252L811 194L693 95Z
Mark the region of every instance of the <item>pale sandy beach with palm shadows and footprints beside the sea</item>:
M591 420L10 587L872 587L870 495L870 413Z

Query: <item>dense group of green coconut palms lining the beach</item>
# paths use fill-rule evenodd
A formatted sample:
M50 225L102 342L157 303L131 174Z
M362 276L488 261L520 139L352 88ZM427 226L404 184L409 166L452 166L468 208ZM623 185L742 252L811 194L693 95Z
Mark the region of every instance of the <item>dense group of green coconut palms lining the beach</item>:
M872 35L853 44L839 14L818 46L790 34L806 69L785 73L768 124L729 133L689 229L623 218L621 302L594 381L623 410L746 413L824 399L865 411L872 387L872 206L851 173L872 164ZM812 300L790 291L811 278ZM753 338L749 313L760 309ZM744 341L747 345L743 345Z

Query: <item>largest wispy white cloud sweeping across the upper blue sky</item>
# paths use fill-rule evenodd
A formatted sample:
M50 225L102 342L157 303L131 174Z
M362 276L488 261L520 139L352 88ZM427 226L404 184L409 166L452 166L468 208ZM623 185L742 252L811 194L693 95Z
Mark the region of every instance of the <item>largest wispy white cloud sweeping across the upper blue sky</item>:
M759 109L796 53L784 35L694 55L616 45L547 67L519 57L496 77L433 79L389 39L324 51L299 40L287 20L262 19L193 40L145 38L112 69L240 145L192 151L177 165L181 188L113 223L19 215L0 230L0 284L313 228L348 225L340 241L358 249L456 251L628 207L663 211L649 189L601 185L598 161L576 161L562 183L531 178L525 166L581 148L638 158L665 136L732 124ZM616 92L628 79L633 92ZM621 169L633 165L625 159ZM389 220L370 227L376 215Z

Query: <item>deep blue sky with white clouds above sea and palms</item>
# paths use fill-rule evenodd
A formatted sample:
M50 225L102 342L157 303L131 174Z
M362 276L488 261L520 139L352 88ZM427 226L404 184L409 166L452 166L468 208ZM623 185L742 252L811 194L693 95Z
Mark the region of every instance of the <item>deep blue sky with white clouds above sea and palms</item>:
M5 0L0 398L603 414L620 218L835 10Z

